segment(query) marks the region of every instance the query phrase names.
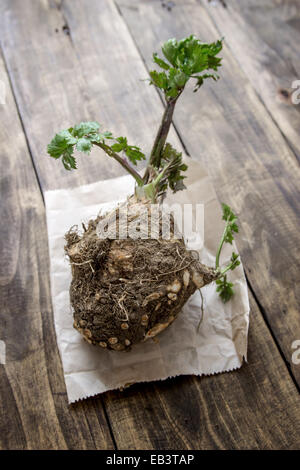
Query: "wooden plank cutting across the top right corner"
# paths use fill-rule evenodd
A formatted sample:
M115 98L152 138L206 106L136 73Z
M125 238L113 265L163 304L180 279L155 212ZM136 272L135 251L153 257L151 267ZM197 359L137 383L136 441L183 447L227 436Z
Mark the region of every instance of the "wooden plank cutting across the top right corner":
M300 77L300 5L276 0L230 0L206 7L226 44L300 160L299 105L291 101Z

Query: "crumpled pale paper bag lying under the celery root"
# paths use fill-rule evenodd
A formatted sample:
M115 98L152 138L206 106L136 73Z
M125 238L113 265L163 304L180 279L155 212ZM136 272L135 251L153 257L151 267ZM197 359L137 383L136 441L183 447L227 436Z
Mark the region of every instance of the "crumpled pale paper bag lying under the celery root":
M167 197L167 202L204 204L204 245L200 260L214 265L217 246L224 229L220 204L203 167L192 159L185 184L187 189ZM249 300L240 265L230 272L235 296L223 304L215 284L197 291L175 322L157 336L137 344L130 352L107 351L84 341L73 328L69 300L71 270L64 254L64 234L73 225L96 217L126 199L134 190L131 176L122 176L74 189L45 193L50 250L51 294L57 343L62 359L69 403L137 382L164 380L178 375L208 375L241 367L247 354ZM62 203L63 201L63 203ZM235 245L225 245L222 264L228 262Z

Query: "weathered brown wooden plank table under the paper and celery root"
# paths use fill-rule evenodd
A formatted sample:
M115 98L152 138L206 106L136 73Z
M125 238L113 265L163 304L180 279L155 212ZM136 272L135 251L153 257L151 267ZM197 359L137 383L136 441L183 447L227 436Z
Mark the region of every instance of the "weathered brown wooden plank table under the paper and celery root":
M300 78L299 3L2 0L0 8L1 448L299 448L300 105L290 98ZM162 41L190 33L226 37L222 79L186 92L171 140L206 166L220 201L239 214L248 363L68 406L43 193L122 169L98 153L67 173L46 145L70 123L98 120L149 150L163 104L140 79Z

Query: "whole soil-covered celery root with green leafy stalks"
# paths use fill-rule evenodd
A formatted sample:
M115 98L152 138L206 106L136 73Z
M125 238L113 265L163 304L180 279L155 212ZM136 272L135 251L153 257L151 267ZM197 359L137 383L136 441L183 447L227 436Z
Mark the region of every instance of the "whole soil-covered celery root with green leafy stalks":
M153 54L160 71L150 72L150 84L165 97L165 111L158 129L144 175L135 168L145 159L140 148L129 145L126 137L103 132L97 122L82 122L60 131L48 145L48 153L62 160L66 170L76 169L74 151L90 153L99 147L118 161L135 179L135 192L109 214L90 220L83 233L71 228L66 234L65 252L70 260L72 282L70 300L74 327L91 344L116 351L154 338L177 317L189 297L203 286L216 281L224 302L233 295L227 272L239 264L232 253L228 266L220 267L224 243L232 243L238 231L236 216L223 204L225 228L213 267L202 264L195 252L186 248L176 236L174 220L169 215L170 236L163 236L164 214L161 202L168 190L185 189L187 165L182 155L166 142L174 108L189 80L195 80L194 91L208 78L217 80L221 65L218 57L222 41L203 43L194 36L170 39L162 46L163 59ZM158 204L158 232L155 237L118 236L121 221L138 222L151 217L151 207ZM99 236L99 226L109 227L115 220L119 232ZM144 219L143 219L144 220ZM200 313L199 313L200 316Z

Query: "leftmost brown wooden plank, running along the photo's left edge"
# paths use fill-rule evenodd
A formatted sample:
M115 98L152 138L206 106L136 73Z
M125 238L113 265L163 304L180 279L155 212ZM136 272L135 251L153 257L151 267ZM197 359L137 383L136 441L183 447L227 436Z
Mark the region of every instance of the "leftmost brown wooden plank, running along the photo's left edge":
M43 200L0 55L0 448L113 448L101 400L67 405L49 292Z

